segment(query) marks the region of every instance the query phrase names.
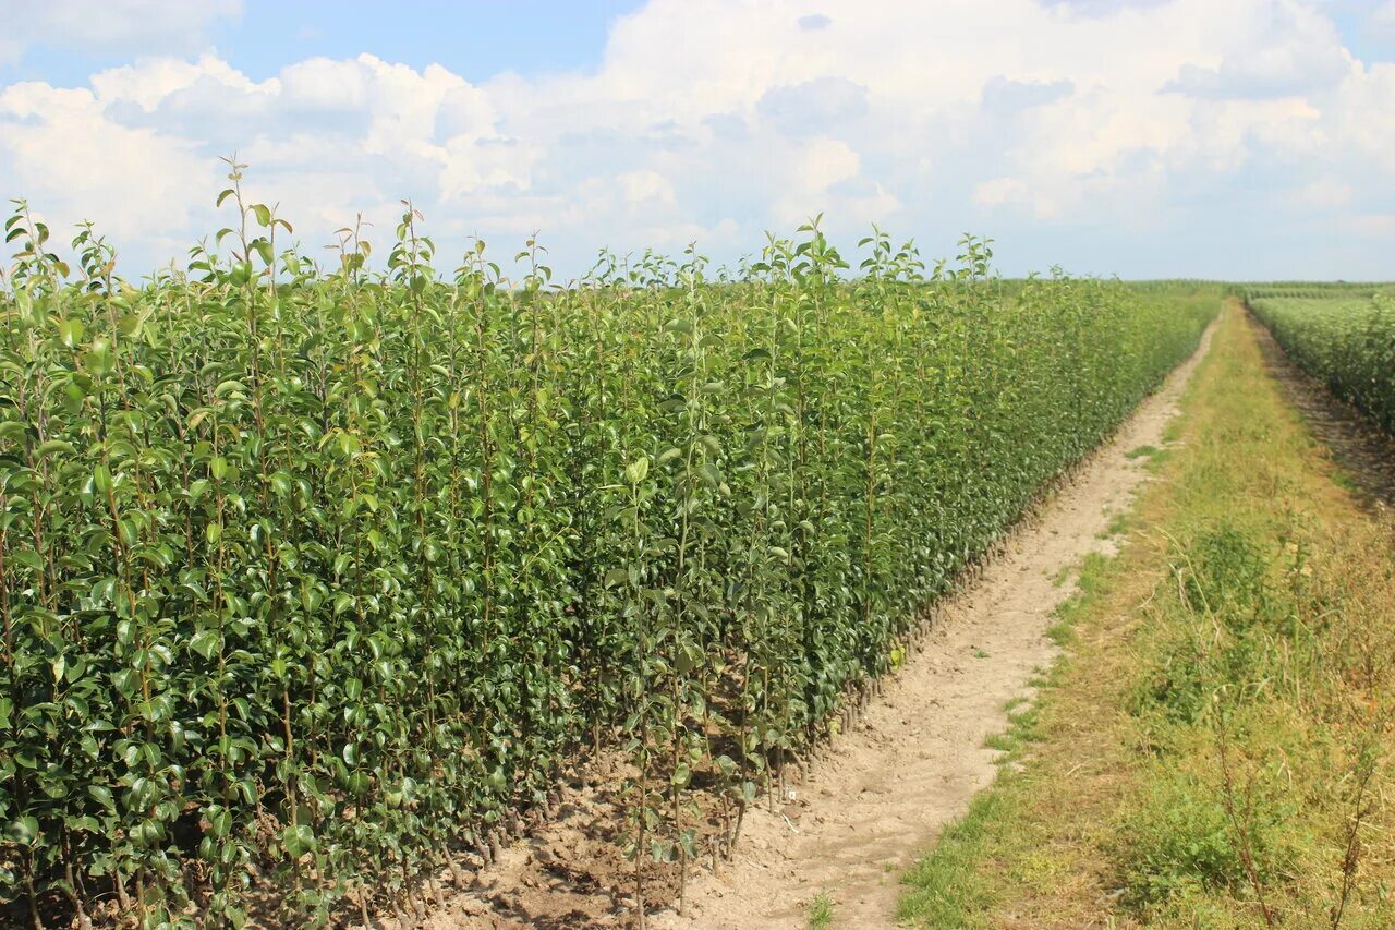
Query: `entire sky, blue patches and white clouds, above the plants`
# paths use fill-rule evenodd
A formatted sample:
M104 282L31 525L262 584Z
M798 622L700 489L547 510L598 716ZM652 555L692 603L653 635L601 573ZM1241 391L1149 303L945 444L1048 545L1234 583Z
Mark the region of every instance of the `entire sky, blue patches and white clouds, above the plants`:
M410 198L559 279L822 214L1010 275L1395 278L1395 0L0 0L0 197L137 279L250 165L310 254ZM57 236L56 236L57 237Z

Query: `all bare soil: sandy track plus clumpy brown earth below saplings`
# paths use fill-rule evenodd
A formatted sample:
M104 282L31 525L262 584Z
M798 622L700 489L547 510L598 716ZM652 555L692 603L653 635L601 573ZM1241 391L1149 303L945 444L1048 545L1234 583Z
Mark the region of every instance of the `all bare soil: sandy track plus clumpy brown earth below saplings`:
M1147 457L1129 452L1165 447L1166 425L1209 339L1208 331L997 557L937 607L930 633L857 723L790 778L783 797L746 813L732 857L698 863L685 913L651 913L649 927L805 927L820 892L834 902L836 926L894 926L900 873L993 779L1000 753L985 740L1007 728L1007 704L1030 695L1035 672L1056 655L1048 630L1076 589L1070 573L1088 553L1115 550L1110 524L1149 476ZM614 843L612 764L583 767L562 786L554 817L474 871L467 888L448 892L418 926L631 926L633 866ZM677 896L672 876L656 874L651 884L650 901Z

